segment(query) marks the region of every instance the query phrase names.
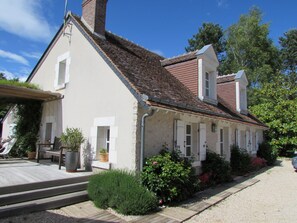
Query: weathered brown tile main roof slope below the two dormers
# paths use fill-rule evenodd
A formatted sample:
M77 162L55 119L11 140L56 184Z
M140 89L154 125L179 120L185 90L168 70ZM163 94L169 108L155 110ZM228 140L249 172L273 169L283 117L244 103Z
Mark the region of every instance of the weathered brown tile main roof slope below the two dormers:
M73 18L74 22L91 37L93 43L103 51L110 63L116 66L134 91L149 97L148 103L151 105L158 104L160 106L185 109L228 119L241 119L242 121L263 125L262 123L236 116L220 103L218 106L214 106L199 100L161 65L160 61L164 60L164 58L158 54L110 32L106 32L106 39L102 39L92 34L79 17L73 16Z

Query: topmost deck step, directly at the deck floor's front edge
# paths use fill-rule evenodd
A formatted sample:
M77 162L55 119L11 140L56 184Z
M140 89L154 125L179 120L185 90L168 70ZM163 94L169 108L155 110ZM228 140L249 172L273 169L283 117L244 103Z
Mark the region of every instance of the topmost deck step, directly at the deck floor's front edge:
M29 184L19 184L19 185L8 186L8 187L0 187L0 195L85 182L85 181L88 181L89 177L90 176L80 176L80 177L72 177L72 178L65 178L65 179L58 179L58 180L35 182L35 183L29 183Z

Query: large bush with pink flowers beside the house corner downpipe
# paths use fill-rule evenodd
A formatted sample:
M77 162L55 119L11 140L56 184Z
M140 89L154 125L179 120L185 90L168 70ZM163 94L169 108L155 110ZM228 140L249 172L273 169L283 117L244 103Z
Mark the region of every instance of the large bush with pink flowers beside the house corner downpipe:
M198 178L191 163L175 151L163 150L147 159L141 179L160 204L184 200L198 191Z

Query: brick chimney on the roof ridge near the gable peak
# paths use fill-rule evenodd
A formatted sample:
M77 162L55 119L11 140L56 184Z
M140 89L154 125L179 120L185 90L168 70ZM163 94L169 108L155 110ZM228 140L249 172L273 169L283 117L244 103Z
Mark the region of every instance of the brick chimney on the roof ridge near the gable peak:
M92 33L105 37L106 6L108 0L83 0L82 22Z

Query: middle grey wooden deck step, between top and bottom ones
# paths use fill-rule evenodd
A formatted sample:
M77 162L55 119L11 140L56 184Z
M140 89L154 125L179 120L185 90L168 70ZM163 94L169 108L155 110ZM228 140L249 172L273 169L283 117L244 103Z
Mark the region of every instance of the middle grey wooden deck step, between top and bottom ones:
M32 201L77 191L84 191L87 189L87 185L88 182L85 181L81 183L0 195L0 206Z

